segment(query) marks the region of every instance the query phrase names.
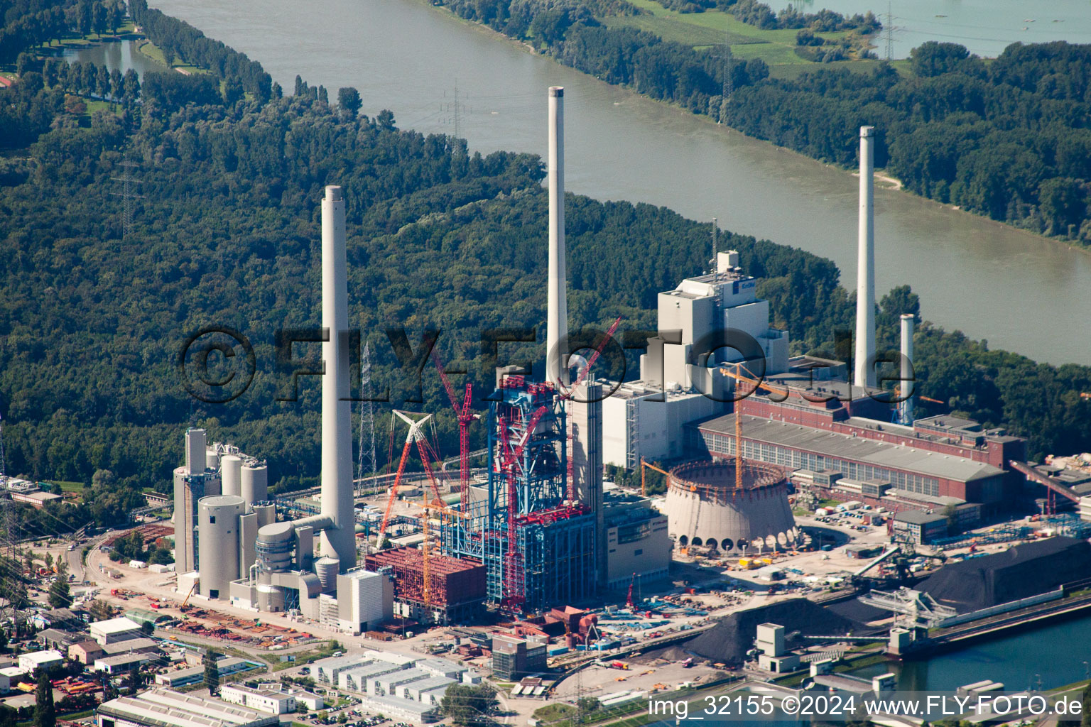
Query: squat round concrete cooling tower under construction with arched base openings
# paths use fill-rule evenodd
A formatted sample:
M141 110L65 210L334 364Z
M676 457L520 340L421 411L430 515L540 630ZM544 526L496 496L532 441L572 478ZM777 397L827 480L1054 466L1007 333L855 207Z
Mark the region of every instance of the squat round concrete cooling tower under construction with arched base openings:
M688 462L671 470L667 484L668 530L681 546L738 552L786 547L796 541L780 468L744 462L743 487L735 489L735 464Z

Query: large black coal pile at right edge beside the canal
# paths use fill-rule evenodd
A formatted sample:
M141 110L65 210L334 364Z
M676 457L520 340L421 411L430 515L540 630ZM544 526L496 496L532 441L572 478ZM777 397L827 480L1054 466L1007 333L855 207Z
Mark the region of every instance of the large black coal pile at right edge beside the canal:
M1091 578L1091 544L1074 537L1051 537L944 566L921 581L916 590L964 614L1086 578Z

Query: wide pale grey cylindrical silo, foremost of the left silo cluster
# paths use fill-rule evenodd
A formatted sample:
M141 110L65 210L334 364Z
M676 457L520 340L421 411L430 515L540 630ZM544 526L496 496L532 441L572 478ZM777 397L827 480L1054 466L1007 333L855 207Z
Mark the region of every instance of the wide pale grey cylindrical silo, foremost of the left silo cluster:
M197 500L197 567L201 595L230 598L230 583L239 578L239 517L245 504L238 495L213 495Z

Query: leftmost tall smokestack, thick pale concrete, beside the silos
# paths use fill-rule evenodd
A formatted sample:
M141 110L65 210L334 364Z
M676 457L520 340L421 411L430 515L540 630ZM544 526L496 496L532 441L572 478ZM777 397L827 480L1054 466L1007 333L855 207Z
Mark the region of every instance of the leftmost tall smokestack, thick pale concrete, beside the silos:
M322 531L322 555L356 565L352 517L352 432L348 401L348 281L345 252L345 199L339 186L327 186L322 201L322 514L335 528Z

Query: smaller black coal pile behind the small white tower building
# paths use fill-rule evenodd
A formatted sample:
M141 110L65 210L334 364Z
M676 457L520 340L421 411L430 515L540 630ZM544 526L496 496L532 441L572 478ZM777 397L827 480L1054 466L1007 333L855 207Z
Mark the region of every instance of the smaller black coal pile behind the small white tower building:
M806 598L790 598L724 616L711 629L686 642L684 649L714 662L742 664L746 652L754 647L759 623L779 623L784 627L786 633L800 631L805 635L841 635L860 631L860 623L828 608Z

